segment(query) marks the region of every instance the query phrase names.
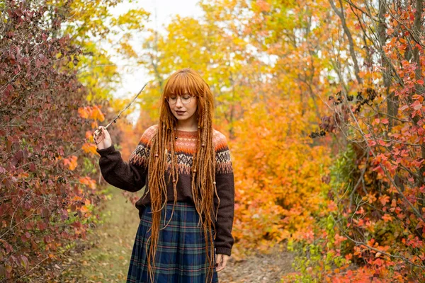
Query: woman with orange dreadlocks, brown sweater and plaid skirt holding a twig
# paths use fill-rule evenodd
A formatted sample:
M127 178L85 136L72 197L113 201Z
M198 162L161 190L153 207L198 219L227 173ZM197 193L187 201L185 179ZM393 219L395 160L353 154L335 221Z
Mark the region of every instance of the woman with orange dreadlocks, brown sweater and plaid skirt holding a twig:
M196 71L172 74L161 99L158 124L128 163L104 127L94 136L108 183L130 192L145 186L127 282L218 282L234 243L227 140L212 128L212 93Z

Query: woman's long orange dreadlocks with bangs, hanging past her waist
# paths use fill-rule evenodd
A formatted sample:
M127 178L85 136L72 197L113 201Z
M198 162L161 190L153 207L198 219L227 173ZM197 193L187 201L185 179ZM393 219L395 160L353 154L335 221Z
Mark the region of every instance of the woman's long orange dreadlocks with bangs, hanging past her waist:
M204 238L207 239L205 241L205 250L208 259L205 265L208 270L206 282L211 282L213 275L213 237L215 237L215 234L212 235L212 229L215 231L215 220L217 220L217 211L214 214L213 209L214 195L217 196L218 204L220 205L220 198L217 195L217 187L215 185L215 147L212 144L214 100L208 83L196 71L186 68L176 71L166 82L161 96L162 104L158 130L152 138L151 154L148 161L148 190L152 202L152 233L149 237L151 244L149 252L147 252L147 265L149 277L152 282L154 279L154 259L157 252L161 212L166 207L167 202L166 171L168 170L169 178L172 178L174 187L174 204L171 217L173 216L174 206L177 201L176 185L179 180L177 157L174 151L176 134L174 129L176 129L177 119L171 112L166 99L171 95L182 96L184 93L190 93L191 96L196 96L197 98L197 110L194 115L196 115L198 120L198 141L196 151L193 154L191 184L193 202L200 216L199 221L202 226ZM171 166L167 163L167 152L171 155ZM212 217L212 215L215 217Z

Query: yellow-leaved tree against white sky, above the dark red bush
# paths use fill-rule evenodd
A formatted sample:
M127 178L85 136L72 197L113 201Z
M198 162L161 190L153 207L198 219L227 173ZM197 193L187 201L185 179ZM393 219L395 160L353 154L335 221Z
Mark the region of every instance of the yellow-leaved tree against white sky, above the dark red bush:
M101 103L111 99L120 82L118 67L111 56L132 59L135 52L129 42L135 32L145 28L149 13L143 8L132 8L113 16L113 8L125 2L58 0L48 3L47 17L59 19L62 27L53 36L69 35L72 44L83 50L69 62L69 67L78 69L79 81L89 89L88 101Z

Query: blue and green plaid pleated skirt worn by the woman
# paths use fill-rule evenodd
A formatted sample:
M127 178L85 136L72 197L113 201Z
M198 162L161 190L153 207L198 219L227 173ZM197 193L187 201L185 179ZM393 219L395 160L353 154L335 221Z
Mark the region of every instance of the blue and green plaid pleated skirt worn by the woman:
M173 203L162 209L157 254L155 255L154 282L158 283L205 283L208 259L205 252L205 236L198 226L199 215L195 204L176 202L171 218ZM166 221L164 225L164 214ZM147 272L147 250L150 248L152 226L151 207L146 207L140 216L139 229L132 249L127 283L152 283ZM166 226L165 229L164 226ZM162 229L162 230L161 230ZM213 233L214 231L212 231ZM212 281L218 282L213 253ZM211 273L211 272L210 272ZM210 275L211 277L211 275Z

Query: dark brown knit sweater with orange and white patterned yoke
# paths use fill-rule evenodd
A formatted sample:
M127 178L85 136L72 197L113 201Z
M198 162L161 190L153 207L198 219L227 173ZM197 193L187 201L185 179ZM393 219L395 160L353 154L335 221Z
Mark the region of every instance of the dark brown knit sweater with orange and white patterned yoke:
M146 129L140 138L135 151L132 152L128 163L123 161L119 151L114 145L106 149L98 149L101 155L99 166L106 182L122 190L137 192L146 185L145 193L136 202L139 214L150 204L148 190L147 161L150 151L150 141L157 131L158 125ZM176 154L178 163L179 180L177 182L177 200L193 203L191 190L191 166L193 164L193 153L196 150L198 132L186 132L176 130ZM214 129L212 142L215 146L216 173L215 182L217 194L220 197L220 207L217 212L215 227L217 236L214 240L215 252L217 254L230 255L234 238L232 226L234 217L234 178L230 151L224 134ZM170 154L169 154L170 155ZM171 161L171 156L167 158ZM166 177L166 181L169 178ZM173 183L167 184L167 202L174 202ZM215 208L218 205L217 197L214 196ZM215 211L215 209L214 209Z

